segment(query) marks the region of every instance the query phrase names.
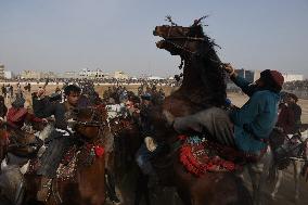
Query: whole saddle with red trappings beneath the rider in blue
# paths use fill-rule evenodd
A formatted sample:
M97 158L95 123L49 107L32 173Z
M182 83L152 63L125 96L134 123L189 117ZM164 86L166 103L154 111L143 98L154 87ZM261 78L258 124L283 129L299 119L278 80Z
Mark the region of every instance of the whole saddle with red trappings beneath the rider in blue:
M247 163L258 161L261 154L244 153L233 148L205 140L198 136L179 136L180 162L185 169L201 177L205 172L222 172L242 170Z

